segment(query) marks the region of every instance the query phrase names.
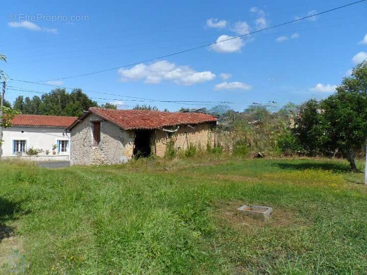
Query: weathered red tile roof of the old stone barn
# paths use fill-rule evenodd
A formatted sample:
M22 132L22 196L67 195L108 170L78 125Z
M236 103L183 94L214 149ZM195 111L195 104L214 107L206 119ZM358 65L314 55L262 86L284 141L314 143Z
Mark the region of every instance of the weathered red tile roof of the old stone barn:
M200 113L171 113L147 110L114 110L90 107L89 111L125 130L158 129L167 126L216 122L217 118Z

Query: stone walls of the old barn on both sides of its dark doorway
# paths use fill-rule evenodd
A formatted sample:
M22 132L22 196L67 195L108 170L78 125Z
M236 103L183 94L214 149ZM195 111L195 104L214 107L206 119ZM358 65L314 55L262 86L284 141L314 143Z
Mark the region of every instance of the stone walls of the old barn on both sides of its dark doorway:
M101 122L101 140L99 146L93 146L93 123ZM206 147L211 142L213 123L202 123L189 127L180 126L178 131L170 134L161 129L150 131L152 153L164 156L166 145L172 139L175 148L186 150L188 144ZM172 127L176 129L177 127ZM117 125L104 121L90 114L71 130L70 164L114 164L123 163L133 157L135 132L123 130Z

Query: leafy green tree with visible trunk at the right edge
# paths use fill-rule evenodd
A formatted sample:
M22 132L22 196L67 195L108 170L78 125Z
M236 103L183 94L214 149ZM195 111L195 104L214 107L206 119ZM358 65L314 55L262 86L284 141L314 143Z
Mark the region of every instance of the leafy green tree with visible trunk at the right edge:
M367 139L367 62L356 66L352 76L344 78L321 107L327 146L342 152L351 169L357 170L355 152Z

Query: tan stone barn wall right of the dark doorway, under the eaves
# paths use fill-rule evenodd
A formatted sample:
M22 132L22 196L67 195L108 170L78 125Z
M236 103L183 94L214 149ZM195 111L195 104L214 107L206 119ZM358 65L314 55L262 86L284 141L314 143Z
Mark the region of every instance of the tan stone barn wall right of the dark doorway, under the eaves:
M213 123L202 123L193 125L192 127L193 128L187 125L180 126L178 130L172 134L160 129L155 130L152 136L155 154L164 156L166 145L171 139L174 141L174 147L177 150L186 150L190 143L205 148L206 144L211 142ZM172 127L172 129L176 128L176 126Z

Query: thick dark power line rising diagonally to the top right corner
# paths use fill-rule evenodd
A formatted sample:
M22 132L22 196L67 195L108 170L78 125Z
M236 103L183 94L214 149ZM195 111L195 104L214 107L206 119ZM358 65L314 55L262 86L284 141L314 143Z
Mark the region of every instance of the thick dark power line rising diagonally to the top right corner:
M215 45L215 44L219 44L219 43L222 43L222 42L225 42L225 41L229 41L229 40L233 40L233 39L238 39L238 38L241 38L241 37L244 37L244 36L248 36L248 35L251 35L251 34L255 34L255 33L259 33L259 32L264 32L264 31L267 31L267 30L278 28L279 26L283 26L283 25L286 25L286 24L291 24L291 23L294 23L294 22L297 22L297 21L301 21L301 20L304 20L304 19L307 19L307 18L311 18L311 17L314 17L314 16L318 16L318 15L321 15L321 14L332 12L332 11L335 11L335 10L343 9L343 8L346 8L346 7L349 7L349 6L352 6L352 5L356 5L358 3L362 3L364 1L366 1L366 0L360 0L360 1L357 1L357 2L353 2L351 4L339 6L339 7L336 7L336 8L330 9L330 10L326 10L326 11L323 11L323 12L319 12L319 13L316 13L316 14L313 14L313 15L309 15L309 16L305 16L305 17L302 17L302 18L294 19L292 21L287 21L287 22L280 23L280 24L277 24L277 25L269 26L268 28L264 28L264 29L261 29L261 30L253 31L253 32L250 32L250 33L247 33L247 34L238 35L238 36L235 36L235 37L223 39L223 40L220 40L220 41L215 41L215 42L208 43L208 44L205 44L205 45L201 45L201 46L198 46L198 47L194 47L194 48L190 48L190 49L181 50L181 51L178 51L178 52L166 54L165 56L161 56L161 57L157 57L157 58L151 58L151 59L140 61L140 62L135 62L135 63L131 63L131 64L123 65L123 66L118 66L118 67L113 67L113 68L109 68L109 69L104 69L104 70L99 70L99 71L94 71L94 72L90 72L90 73L84 73L84 74L78 74L78 75L71 75L71 76L67 76L67 77L60 77L60 78L54 78L54 79L48 79L48 80L41 80L41 82L53 81L53 80L64 80L64 79L69 79L69 78L74 78L74 77L87 76L87 75L92 75L92 74L96 74L96 73L117 70L119 68L130 67L130 66L141 64L141 63L150 62L150 61L154 61L154 60L159 60L159 59L163 59L163 58L167 58L167 57L176 56L177 54L181 54L181 53L193 51L193 50L196 50L196 49L205 48L205 47L212 46L212 45Z

